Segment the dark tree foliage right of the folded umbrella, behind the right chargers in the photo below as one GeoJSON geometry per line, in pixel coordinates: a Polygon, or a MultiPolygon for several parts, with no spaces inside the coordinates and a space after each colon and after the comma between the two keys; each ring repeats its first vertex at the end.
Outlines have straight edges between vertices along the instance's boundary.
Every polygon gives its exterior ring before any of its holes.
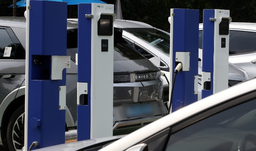
{"type": "Polygon", "coordinates": [[[121,0],[123,18],[148,23],[169,31],[170,8],[230,10],[232,22],[256,22],[256,0],[121,0]]]}

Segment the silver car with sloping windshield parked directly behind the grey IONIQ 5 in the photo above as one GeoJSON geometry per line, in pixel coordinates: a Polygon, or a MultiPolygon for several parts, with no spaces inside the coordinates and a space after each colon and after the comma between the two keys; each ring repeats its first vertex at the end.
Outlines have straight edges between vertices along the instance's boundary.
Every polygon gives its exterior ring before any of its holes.
{"type": "MultiPolygon", "coordinates": [[[[149,24],[131,20],[115,20],[114,27],[123,30],[124,39],[131,44],[144,57],[161,57],[160,66],[158,66],[169,77],[170,64],[170,34],[160,29],[154,28],[149,24]]],[[[200,44],[200,43],[199,43],[200,44]]],[[[200,48],[200,46],[199,46],[200,48]]],[[[201,48],[202,50],[202,48],[201,48]]],[[[200,49],[199,49],[200,54],[200,49]]],[[[200,58],[200,57],[199,57],[200,58]]],[[[200,58],[201,59],[201,58],[200,58]]],[[[202,66],[199,61],[198,66],[199,85],[198,100],[201,99],[201,80],[202,66]]],[[[163,78],[163,100],[169,101],[169,85],[163,78]]],[[[242,68],[229,63],[229,86],[233,86],[241,81],[249,79],[248,73],[242,68]]],[[[170,79],[168,79],[170,80],[170,79]]]]}

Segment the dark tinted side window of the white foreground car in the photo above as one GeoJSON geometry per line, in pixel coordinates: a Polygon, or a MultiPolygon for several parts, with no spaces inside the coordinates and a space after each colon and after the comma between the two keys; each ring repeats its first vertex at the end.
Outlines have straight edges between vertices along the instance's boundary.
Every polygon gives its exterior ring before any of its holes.
{"type": "Polygon", "coordinates": [[[172,134],[166,151],[256,150],[256,99],[207,117],[172,134]]]}

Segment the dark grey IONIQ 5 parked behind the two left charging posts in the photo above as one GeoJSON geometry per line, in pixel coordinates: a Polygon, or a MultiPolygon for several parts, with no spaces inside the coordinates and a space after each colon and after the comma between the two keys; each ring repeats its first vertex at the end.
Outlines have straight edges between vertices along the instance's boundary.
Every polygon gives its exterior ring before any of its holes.
{"type": "MultiPolygon", "coordinates": [[[[76,129],[77,120],[77,27],[77,20],[67,21],[67,56],[72,61],[67,69],[66,131],[76,129]]],[[[113,131],[141,127],[167,113],[159,68],[129,45],[120,32],[114,28],[113,131]],[[146,78],[138,78],[142,75],[146,78]],[[153,115],[122,116],[122,104],[126,103],[148,103],[153,106],[153,115]]],[[[11,151],[24,146],[25,37],[24,17],[0,17],[0,145],[11,151]],[[11,48],[10,54],[6,48],[11,48]]]]}

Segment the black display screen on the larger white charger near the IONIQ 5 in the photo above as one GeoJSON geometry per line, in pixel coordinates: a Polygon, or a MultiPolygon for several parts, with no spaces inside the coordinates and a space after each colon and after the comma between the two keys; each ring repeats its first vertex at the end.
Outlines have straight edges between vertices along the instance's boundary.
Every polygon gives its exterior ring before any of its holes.
{"type": "Polygon", "coordinates": [[[98,20],[98,35],[113,35],[113,16],[101,15],[98,20]]]}

